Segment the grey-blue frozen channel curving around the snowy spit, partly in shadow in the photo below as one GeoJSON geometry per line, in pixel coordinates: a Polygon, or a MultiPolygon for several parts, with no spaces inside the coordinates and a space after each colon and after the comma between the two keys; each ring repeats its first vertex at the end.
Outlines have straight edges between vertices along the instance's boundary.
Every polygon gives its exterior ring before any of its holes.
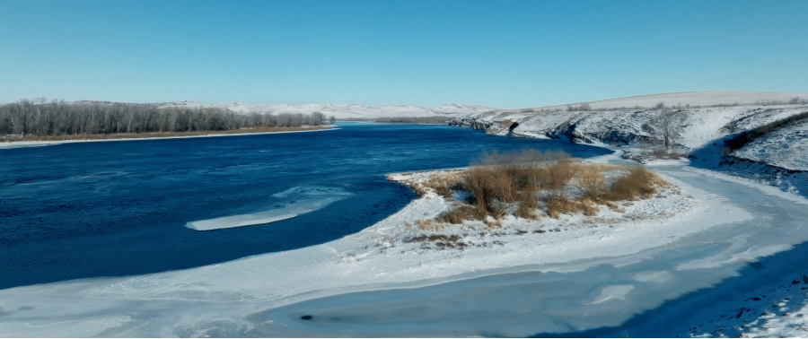
{"type": "Polygon", "coordinates": [[[701,170],[656,170],[703,188],[713,211],[697,222],[714,226],[628,256],[478,272],[473,275],[484,276],[417,288],[375,286],[297,302],[248,317],[258,327],[253,333],[681,336],[709,320],[699,317],[717,318],[737,307],[732,303],[737,297],[808,272],[808,246],[801,244],[808,239],[803,199],[701,170]],[[727,206],[749,215],[732,221],[737,215],[728,215],[727,206]],[[259,326],[268,320],[271,326],[259,326]]]}

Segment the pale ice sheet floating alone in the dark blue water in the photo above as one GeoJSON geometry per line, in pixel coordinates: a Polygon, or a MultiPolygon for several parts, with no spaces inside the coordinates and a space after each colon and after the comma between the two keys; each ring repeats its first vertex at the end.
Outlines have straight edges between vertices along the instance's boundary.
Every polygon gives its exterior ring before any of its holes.
{"type": "Polygon", "coordinates": [[[274,208],[268,211],[189,222],[186,226],[193,230],[220,230],[279,222],[317,211],[327,204],[353,195],[336,187],[293,187],[272,195],[281,200],[273,204],[274,208]]]}

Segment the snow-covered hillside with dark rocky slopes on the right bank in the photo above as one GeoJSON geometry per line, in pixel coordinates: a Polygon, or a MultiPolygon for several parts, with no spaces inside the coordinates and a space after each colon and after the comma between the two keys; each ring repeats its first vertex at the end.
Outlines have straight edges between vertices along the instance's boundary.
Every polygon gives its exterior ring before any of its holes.
{"type": "MultiPolygon", "coordinates": [[[[808,93],[777,93],[749,91],[707,91],[654,94],[603,100],[616,106],[653,106],[644,103],[661,98],[678,98],[695,105],[729,105],[733,102],[765,101],[782,103],[786,98],[808,99],[808,93]],[[689,93],[690,96],[685,94],[689,93]],[[766,93],[762,96],[760,93],[766,93]],[[720,95],[718,95],[720,94],[720,95]],[[651,98],[651,99],[649,99],[651,98]]],[[[726,154],[725,140],[759,126],[764,126],[786,117],[808,112],[803,99],[788,101],[800,104],[746,105],[708,108],[682,108],[685,117],[680,146],[696,159],[695,166],[742,174],[799,192],[808,196],[808,121],[800,120],[762,135],[741,149],[726,154]],[[800,173],[794,173],[799,171],[800,173]]],[[[473,113],[455,118],[452,125],[484,129],[489,135],[524,138],[561,139],[573,143],[605,143],[615,146],[637,147],[647,140],[658,138],[650,121],[661,113],[660,109],[595,109],[591,111],[567,111],[564,109],[518,109],[473,113]]],[[[678,106],[678,104],[677,104],[678,106]]],[[[559,106],[560,107],[560,106],[559,106]]],[[[732,150],[730,150],[732,151],[732,150]]]]}

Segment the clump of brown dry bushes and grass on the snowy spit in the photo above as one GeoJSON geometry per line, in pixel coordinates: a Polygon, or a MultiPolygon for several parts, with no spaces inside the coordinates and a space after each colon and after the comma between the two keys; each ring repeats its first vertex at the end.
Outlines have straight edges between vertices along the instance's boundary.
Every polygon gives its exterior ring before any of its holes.
{"type": "MultiPolygon", "coordinates": [[[[640,166],[584,164],[563,152],[535,150],[488,153],[464,173],[438,175],[425,184],[446,198],[451,198],[456,190],[470,193],[469,204],[459,204],[441,213],[435,222],[459,224],[479,220],[489,228],[498,227],[507,211],[531,220],[540,219],[541,207],[551,218],[560,218],[565,213],[596,216],[600,205],[621,212],[624,210],[615,202],[646,199],[656,193],[657,187],[668,185],[640,166]],[[605,172],[612,173],[610,179],[604,176],[605,172]],[[568,196],[571,182],[579,189],[579,195],[568,196]]],[[[421,230],[436,228],[426,221],[418,224],[421,230]]]]}

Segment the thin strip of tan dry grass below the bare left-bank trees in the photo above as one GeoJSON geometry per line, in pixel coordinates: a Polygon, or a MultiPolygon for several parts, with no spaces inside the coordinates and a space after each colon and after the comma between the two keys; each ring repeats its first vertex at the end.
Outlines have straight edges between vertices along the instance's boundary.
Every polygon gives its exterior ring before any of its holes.
{"type": "Polygon", "coordinates": [[[331,126],[255,127],[244,129],[231,129],[227,131],[119,133],[110,135],[40,135],[40,136],[26,135],[26,136],[0,137],[0,143],[13,143],[21,141],[143,139],[143,138],[167,138],[177,136],[202,136],[202,135],[242,135],[248,133],[316,131],[322,129],[331,129],[331,126]]]}

